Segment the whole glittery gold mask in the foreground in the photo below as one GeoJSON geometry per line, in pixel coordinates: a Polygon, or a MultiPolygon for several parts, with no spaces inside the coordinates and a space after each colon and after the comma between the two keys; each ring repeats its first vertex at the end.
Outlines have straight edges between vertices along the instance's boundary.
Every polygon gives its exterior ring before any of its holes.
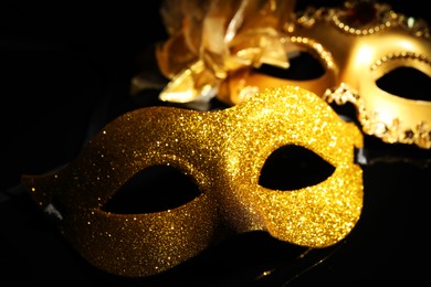
{"type": "MultiPolygon", "coordinates": [[[[361,145],[359,129],[320,97],[299,87],[273,88],[223,110],[129,111],[106,125],[69,166],[23,176],[22,183],[94,266],[149,276],[198,255],[222,238],[223,228],[265,231],[314,248],[336,244],[361,213],[362,170],[354,161],[361,145]],[[293,190],[260,184],[270,156],[292,146],[313,151],[334,167],[333,173],[293,190]],[[156,166],[179,170],[200,194],[169,210],[106,211],[135,174],[156,166]]],[[[139,192],[154,191],[144,187],[139,192]]]]}

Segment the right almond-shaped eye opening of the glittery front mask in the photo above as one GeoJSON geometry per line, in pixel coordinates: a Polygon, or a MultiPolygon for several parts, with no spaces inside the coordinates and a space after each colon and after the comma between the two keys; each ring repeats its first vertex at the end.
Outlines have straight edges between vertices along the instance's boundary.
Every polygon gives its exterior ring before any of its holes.
{"type": "Polygon", "coordinates": [[[262,167],[259,184],[271,190],[292,191],[325,181],[335,167],[314,151],[286,145],[273,151],[262,167]]]}

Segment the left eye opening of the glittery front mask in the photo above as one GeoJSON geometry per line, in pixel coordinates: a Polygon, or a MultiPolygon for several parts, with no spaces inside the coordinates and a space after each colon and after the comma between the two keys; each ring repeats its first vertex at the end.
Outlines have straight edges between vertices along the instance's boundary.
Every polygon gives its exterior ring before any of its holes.
{"type": "Polygon", "coordinates": [[[156,164],[132,177],[101,210],[117,214],[160,212],[179,208],[200,194],[190,176],[169,164],[156,164]]]}

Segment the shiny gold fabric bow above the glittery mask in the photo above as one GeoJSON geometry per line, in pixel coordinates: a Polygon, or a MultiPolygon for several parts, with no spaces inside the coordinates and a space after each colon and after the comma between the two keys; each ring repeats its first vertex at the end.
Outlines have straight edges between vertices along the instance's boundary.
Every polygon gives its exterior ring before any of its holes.
{"type": "MultiPolygon", "coordinates": [[[[262,63],[287,68],[288,42],[282,26],[294,4],[285,0],[165,0],[160,12],[170,38],[156,49],[156,57],[170,82],[159,98],[208,102],[231,71],[262,63]]],[[[135,92],[138,82],[138,77],[133,81],[135,92]]]]}

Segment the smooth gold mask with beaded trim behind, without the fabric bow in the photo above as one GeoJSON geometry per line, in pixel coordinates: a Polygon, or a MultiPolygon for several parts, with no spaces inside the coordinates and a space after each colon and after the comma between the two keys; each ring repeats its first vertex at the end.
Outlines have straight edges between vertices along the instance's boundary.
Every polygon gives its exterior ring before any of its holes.
{"type": "MultiPolygon", "coordinates": [[[[313,54],[325,73],[312,79],[283,79],[262,70],[236,71],[224,82],[219,96],[223,102],[238,104],[269,86],[298,85],[328,103],[353,104],[368,135],[389,144],[431,148],[431,40],[427,23],[396,13],[385,3],[346,1],[341,8],[308,7],[295,15],[285,32],[290,35],[285,41],[294,44],[286,52],[313,54]],[[408,77],[416,79],[412,85],[427,84],[417,87],[416,95],[393,88],[397,79],[390,84],[392,88],[385,87],[386,78],[400,71],[414,75],[408,77]]],[[[285,71],[287,74],[288,68],[285,71]]]]}

